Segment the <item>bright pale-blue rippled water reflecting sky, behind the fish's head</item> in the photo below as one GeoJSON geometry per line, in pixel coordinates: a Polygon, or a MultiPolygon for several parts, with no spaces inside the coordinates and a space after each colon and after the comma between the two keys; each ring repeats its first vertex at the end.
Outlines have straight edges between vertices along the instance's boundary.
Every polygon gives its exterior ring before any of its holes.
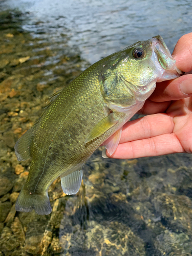
{"type": "Polygon", "coordinates": [[[90,63],[157,34],[173,51],[177,40],[192,28],[192,3],[187,0],[7,0],[6,7],[30,13],[24,28],[34,36],[49,33],[58,40],[67,33],[70,46],[78,47],[90,63]]]}

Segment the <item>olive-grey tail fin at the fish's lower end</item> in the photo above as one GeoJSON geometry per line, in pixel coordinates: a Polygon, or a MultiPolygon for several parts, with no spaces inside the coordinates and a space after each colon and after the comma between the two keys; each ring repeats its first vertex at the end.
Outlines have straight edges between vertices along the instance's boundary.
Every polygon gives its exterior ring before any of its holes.
{"type": "Polygon", "coordinates": [[[48,215],[52,210],[47,191],[45,194],[30,194],[24,187],[17,198],[15,209],[25,212],[34,209],[39,215],[48,215]]]}

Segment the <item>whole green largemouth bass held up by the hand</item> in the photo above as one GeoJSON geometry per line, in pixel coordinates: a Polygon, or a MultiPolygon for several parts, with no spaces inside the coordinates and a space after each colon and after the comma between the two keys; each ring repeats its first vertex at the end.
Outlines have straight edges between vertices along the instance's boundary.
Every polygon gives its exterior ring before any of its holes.
{"type": "Polygon", "coordinates": [[[32,159],[16,210],[50,214],[48,188],[58,177],[65,194],[76,194],[83,165],[94,151],[104,142],[112,155],[123,124],[142,108],[156,82],[180,75],[158,35],[97,61],[53,94],[38,121],[15,144],[18,161],[32,159]]]}

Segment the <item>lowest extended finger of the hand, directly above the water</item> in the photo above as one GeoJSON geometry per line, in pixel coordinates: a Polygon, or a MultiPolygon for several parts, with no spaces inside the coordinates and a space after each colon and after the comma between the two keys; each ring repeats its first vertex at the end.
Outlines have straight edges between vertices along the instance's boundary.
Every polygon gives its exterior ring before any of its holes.
{"type": "Polygon", "coordinates": [[[185,152],[175,134],[163,134],[149,139],[136,140],[119,144],[110,158],[128,159],[138,157],[160,156],[185,152]]]}

